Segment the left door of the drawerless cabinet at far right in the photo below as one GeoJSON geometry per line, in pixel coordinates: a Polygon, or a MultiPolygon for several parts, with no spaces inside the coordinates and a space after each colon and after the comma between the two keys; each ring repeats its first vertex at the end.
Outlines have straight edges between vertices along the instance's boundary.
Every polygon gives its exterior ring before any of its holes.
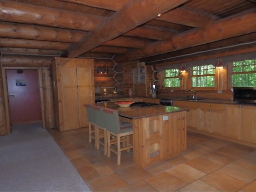
{"type": "Polygon", "coordinates": [[[241,132],[241,106],[226,105],[225,108],[225,136],[240,139],[241,132]]]}

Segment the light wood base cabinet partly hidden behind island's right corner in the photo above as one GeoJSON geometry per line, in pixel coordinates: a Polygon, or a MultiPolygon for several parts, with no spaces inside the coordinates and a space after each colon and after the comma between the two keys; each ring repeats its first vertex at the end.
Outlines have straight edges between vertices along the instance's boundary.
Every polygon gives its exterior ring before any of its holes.
{"type": "Polygon", "coordinates": [[[198,128],[198,108],[199,103],[193,101],[174,100],[174,106],[186,107],[189,111],[186,114],[187,128],[196,130],[198,128]]]}

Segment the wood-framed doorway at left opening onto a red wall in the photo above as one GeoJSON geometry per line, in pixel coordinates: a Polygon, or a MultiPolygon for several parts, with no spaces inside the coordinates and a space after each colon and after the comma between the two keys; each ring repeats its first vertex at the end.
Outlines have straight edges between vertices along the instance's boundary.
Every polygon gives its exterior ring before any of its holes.
{"type": "Polygon", "coordinates": [[[6,77],[3,78],[3,83],[4,100],[6,107],[7,134],[10,134],[12,132],[12,123],[34,122],[38,120],[41,122],[42,128],[45,128],[41,68],[3,67],[2,76],[6,77]],[[12,77],[9,77],[9,72],[10,74],[12,74],[12,77]],[[32,83],[34,84],[33,86],[36,92],[31,92],[31,90],[29,89],[31,88],[32,83]],[[10,86],[14,86],[13,89],[16,89],[16,91],[18,90],[20,92],[25,92],[23,93],[25,94],[25,96],[23,96],[23,98],[19,98],[18,94],[20,93],[11,92],[12,89],[9,88],[10,86]],[[32,98],[34,96],[35,98],[32,98]]]}

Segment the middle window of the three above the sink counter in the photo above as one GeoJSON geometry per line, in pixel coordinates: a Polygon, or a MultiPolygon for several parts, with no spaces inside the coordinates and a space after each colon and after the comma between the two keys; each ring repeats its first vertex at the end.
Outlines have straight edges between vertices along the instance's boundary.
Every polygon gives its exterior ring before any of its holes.
{"type": "Polygon", "coordinates": [[[192,87],[214,87],[215,68],[212,65],[192,68],[192,87]]]}

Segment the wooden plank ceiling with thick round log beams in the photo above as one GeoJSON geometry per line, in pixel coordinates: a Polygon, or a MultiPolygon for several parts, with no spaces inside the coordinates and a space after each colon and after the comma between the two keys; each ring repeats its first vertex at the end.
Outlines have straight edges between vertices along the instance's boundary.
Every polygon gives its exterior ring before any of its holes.
{"type": "Polygon", "coordinates": [[[255,40],[255,0],[0,0],[2,55],[152,62],[255,40]]]}

